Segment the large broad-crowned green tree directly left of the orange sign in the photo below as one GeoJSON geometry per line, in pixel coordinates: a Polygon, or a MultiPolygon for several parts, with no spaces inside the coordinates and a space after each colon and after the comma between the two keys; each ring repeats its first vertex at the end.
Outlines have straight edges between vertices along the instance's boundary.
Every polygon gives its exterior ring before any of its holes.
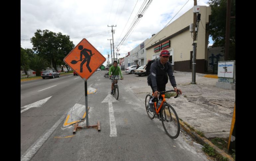
{"type": "Polygon", "coordinates": [[[31,38],[31,43],[33,50],[52,64],[56,71],[58,71],[57,65],[63,65],[64,57],[74,48],[69,36],[49,30],[37,30],[35,36],[31,38]]]}

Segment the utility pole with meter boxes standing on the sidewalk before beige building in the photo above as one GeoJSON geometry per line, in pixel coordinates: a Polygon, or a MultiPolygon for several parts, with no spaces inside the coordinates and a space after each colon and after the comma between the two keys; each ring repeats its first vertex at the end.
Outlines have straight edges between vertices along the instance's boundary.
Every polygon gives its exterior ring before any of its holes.
{"type": "MultiPolygon", "coordinates": [[[[197,3],[196,3],[196,0],[194,0],[194,6],[196,6],[197,3]]],[[[196,84],[195,82],[195,54],[196,54],[196,33],[197,31],[195,31],[195,28],[196,28],[196,12],[194,12],[194,17],[193,17],[193,55],[192,55],[192,82],[191,84],[196,84]]]]}

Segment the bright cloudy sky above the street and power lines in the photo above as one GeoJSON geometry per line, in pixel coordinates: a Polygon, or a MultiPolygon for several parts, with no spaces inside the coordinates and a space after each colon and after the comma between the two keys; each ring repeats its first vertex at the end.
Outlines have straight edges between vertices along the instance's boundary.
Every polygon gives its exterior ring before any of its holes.
{"type": "MultiPolygon", "coordinates": [[[[190,10],[194,3],[193,0],[152,0],[147,5],[150,1],[21,0],[21,46],[32,48],[30,38],[36,30],[47,29],[69,35],[75,46],[86,38],[107,58],[107,52],[110,54],[108,39],[112,39],[111,27],[108,26],[114,25],[115,52],[118,47],[120,57],[124,57],[142,41],[162,30],[170,20],[172,23],[190,10]],[[143,17],[131,28],[138,19],[137,15],[142,13],[143,17]],[[130,29],[130,34],[121,41],[130,29]]],[[[207,2],[198,0],[197,5],[209,6],[207,2]]]]}

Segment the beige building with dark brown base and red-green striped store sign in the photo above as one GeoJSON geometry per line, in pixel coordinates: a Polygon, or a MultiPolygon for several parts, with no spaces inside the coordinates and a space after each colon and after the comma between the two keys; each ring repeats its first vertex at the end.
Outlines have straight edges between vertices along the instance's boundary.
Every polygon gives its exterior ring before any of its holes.
{"type": "MultiPolygon", "coordinates": [[[[199,6],[201,19],[197,27],[197,47],[196,47],[196,68],[198,73],[207,72],[208,57],[207,45],[209,34],[207,24],[209,23],[209,15],[211,8],[207,6],[199,6]]],[[[193,8],[169,24],[159,33],[153,35],[148,43],[145,43],[146,62],[158,58],[160,52],[165,49],[170,51],[169,61],[173,65],[173,69],[177,71],[192,72],[192,53],[193,39],[190,32],[190,24],[193,23],[193,8]]]]}

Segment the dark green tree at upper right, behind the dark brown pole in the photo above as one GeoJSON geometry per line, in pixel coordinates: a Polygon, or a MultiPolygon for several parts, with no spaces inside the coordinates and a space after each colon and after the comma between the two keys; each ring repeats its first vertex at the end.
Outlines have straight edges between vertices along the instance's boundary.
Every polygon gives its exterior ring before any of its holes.
{"type": "MultiPolygon", "coordinates": [[[[212,47],[225,46],[227,0],[209,0],[211,15],[209,34],[212,36],[212,47]]],[[[231,17],[235,16],[235,0],[231,0],[231,17]]],[[[230,19],[230,40],[228,60],[235,60],[235,18],[230,19]]]]}

